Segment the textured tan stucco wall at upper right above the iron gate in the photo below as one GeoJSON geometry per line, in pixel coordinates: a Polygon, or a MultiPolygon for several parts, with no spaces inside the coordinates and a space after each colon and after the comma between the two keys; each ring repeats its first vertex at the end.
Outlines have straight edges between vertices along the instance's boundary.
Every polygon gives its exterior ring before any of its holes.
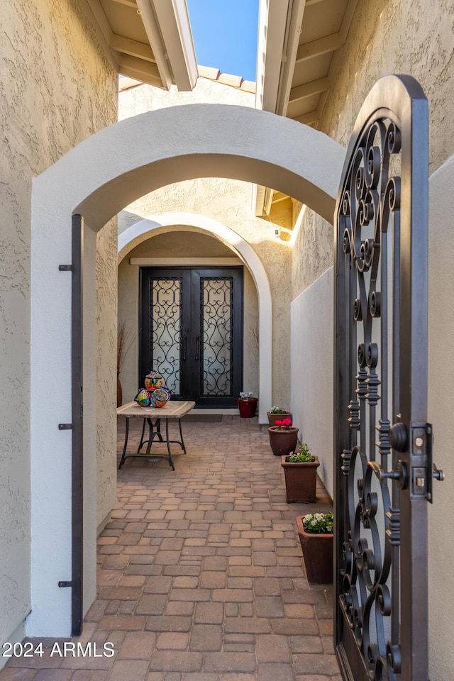
{"type": "Polygon", "coordinates": [[[429,102],[429,173],[454,153],[454,51],[451,0],[367,0],[358,3],[321,119],[348,144],[372,85],[389,73],[409,74],[429,102]]]}

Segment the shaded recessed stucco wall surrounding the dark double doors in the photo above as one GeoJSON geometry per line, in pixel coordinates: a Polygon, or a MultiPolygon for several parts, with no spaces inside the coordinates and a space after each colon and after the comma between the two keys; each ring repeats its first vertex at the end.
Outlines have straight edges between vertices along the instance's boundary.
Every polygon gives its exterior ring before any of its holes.
{"type": "MultiPolygon", "coordinates": [[[[123,404],[131,401],[138,383],[138,282],[139,266],[130,265],[130,258],[235,258],[236,253],[220,241],[180,226],[179,230],[158,234],[133,248],[118,265],[118,322],[125,321],[131,348],[121,368],[123,404]],[[181,230],[181,231],[180,231],[181,230]]],[[[240,263],[238,263],[240,264],[240,263]]],[[[222,266],[218,261],[216,266],[222,266]]],[[[244,371],[245,389],[258,394],[258,298],[255,284],[244,267],[244,371]]]]}

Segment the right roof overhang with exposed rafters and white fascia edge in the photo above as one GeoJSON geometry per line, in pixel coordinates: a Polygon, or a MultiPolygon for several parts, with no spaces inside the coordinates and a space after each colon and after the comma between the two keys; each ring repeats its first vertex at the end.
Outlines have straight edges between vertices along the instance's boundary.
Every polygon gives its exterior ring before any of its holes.
{"type": "MultiPolygon", "coordinates": [[[[358,0],[260,0],[257,109],[319,127],[358,0]]],[[[272,189],[257,187],[255,214],[272,189]]]]}

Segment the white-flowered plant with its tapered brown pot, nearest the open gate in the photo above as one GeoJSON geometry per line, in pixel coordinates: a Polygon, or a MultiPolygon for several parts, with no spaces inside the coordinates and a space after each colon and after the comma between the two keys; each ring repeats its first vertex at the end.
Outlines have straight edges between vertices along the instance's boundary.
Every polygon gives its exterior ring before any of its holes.
{"type": "Polygon", "coordinates": [[[306,576],[311,584],[333,582],[333,513],[308,513],[297,518],[306,576]]]}

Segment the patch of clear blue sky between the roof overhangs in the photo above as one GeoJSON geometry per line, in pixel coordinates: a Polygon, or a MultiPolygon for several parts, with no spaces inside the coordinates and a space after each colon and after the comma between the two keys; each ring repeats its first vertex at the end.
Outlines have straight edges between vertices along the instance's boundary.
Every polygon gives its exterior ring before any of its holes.
{"type": "Polygon", "coordinates": [[[259,0],[186,0],[197,63],[255,81],[259,0]]]}

